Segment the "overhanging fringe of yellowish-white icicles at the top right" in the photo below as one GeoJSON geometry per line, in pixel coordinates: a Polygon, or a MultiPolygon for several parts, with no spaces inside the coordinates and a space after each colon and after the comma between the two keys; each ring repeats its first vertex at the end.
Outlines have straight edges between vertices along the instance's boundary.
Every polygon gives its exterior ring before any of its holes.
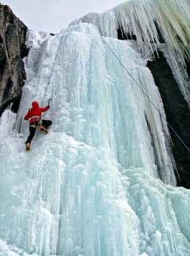
{"type": "Polygon", "coordinates": [[[132,0],[107,12],[88,13],[72,24],[92,23],[100,34],[114,38],[118,38],[121,28],[128,37],[137,37],[142,53],[147,46],[152,53],[155,49],[162,50],[190,106],[190,83],[185,63],[185,59],[190,60],[189,13],[189,0],[132,0]]]}

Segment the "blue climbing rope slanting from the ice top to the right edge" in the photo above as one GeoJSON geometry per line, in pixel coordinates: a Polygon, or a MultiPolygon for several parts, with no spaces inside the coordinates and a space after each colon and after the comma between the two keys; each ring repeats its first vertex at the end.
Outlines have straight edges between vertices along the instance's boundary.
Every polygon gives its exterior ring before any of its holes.
{"type": "MultiPolygon", "coordinates": [[[[84,17],[88,20],[88,18],[86,17],[86,15],[84,15],[84,17]]],[[[91,23],[90,20],[88,20],[88,23],[91,23]]],[[[94,26],[94,24],[91,23],[92,26],[94,26]]],[[[98,29],[96,29],[96,26],[94,26],[94,29],[97,31],[97,33],[99,34],[99,36],[102,38],[103,42],[107,45],[107,42],[104,40],[104,38],[102,37],[102,34],[100,34],[100,32],[98,31],[98,29]]],[[[115,58],[119,61],[119,63],[121,64],[121,66],[123,67],[123,69],[126,70],[126,72],[128,73],[128,75],[132,78],[132,80],[134,80],[134,78],[132,77],[132,75],[130,74],[130,72],[126,69],[126,67],[123,65],[123,63],[121,62],[120,59],[118,59],[118,56],[116,56],[116,54],[113,52],[113,50],[110,48],[109,45],[107,45],[107,47],[110,49],[110,51],[113,53],[113,55],[115,56],[115,58]]],[[[168,123],[167,119],[164,118],[164,116],[160,113],[159,109],[156,108],[156,105],[154,105],[154,103],[151,101],[151,99],[148,97],[148,95],[145,93],[145,91],[143,91],[142,87],[137,83],[136,80],[134,80],[134,83],[137,84],[137,86],[140,88],[140,90],[142,91],[142,93],[145,95],[145,97],[147,97],[147,99],[151,102],[151,104],[153,105],[153,107],[159,112],[159,115],[164,119],[164,121],[167,122],[167,125],[170,127],[170,129],[172,129],[172,131],[175,133],[175,135],[178,137],[178,139],[180,140],[181,143],[183,143],[183,146],[186,147],[186,149],[189,151],[190,153],[190,149],[188,146],[186,146],[186,143],[183,142],[183,140],[180,138],[180,136],[178,135],[177,132],[175,132],[175,129],[172,128],[172,126],[168,123]]]]}

